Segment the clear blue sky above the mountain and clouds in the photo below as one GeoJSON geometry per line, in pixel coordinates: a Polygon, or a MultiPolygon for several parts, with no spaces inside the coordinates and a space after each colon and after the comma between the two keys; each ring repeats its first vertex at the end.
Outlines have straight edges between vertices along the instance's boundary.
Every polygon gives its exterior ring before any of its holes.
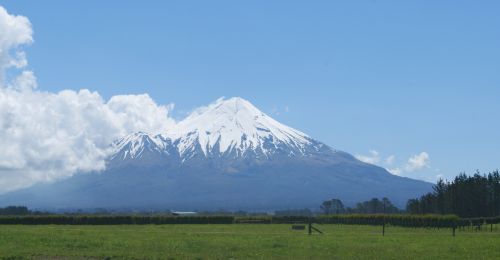
{"type": "Polygon", "coordinates": [[[499,1],[23,1],[39,89],[241,96],[352,154],[434,180],[500,159],[499,1]],[[392,165],[384,161],[395,156],[392,165]]]}

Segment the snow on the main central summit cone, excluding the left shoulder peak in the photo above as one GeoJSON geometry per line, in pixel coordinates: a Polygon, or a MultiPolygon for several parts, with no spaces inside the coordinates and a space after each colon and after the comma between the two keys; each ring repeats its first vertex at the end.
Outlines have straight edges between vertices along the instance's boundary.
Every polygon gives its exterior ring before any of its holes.
{"type": "Polygon", "coordinates": [[[205,155],[229,151],[241,155],[248,150],[267,155],[279,145],[304,153],[311,144],[306,134],[279,123],[242,98],[219,99],[192,113],[166,135],[177,141],[181,156],[198,145],[205,155]]]}

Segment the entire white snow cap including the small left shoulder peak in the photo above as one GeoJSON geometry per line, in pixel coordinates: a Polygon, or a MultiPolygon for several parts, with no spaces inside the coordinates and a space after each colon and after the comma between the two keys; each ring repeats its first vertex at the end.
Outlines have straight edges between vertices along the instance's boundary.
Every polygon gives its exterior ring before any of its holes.
{"type": "MultiPolygon", "coordinates": [[[[242,98],[219,99],[200,108],[161,135],[134,133],[113,144],[110,160],[137,160],[175,154],[182,162],[196,156],[266,158],[334,151],[283,125],[242,98]]],[[[171,156],[172,157],[172,156],[171,156]]]]}

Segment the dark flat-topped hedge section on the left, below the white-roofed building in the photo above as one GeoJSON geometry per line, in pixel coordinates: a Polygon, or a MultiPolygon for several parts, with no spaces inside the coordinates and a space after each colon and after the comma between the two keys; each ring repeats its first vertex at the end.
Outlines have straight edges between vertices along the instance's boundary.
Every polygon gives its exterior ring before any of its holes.
{"type": "Polygon", "coordinates": [[[148,225],[233,224],[233,216],[0,216],[0,224],[22,225],[148,225]]]}

